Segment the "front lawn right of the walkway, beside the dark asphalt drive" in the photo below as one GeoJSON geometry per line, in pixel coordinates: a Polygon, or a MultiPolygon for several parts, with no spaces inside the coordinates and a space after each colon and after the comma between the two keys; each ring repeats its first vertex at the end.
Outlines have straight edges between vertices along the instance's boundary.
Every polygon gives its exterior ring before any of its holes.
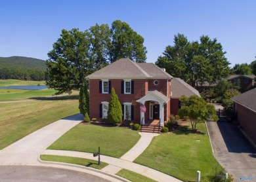
{"type": "Polygon", "coordinates": [[[211,151],[205,124],[198,124],[197,128],[198,133],[190,132],[184,126],[175,133],[154,137],[135,162],[182,181],[196,181],[198,170],[201,176],[213,175],[218,162],[211,151]]]}

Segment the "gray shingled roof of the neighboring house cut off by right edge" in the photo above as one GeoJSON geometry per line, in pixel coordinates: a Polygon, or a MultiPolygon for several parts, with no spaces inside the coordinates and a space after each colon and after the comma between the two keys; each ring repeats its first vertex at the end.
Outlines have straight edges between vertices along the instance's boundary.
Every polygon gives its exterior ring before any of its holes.
{"type": "Polygon", "coordinates": [[[234,96],[234,98],[231,98],[231,100],[256,112],[256,88],[253,88],[238,96],[234,96]]]}

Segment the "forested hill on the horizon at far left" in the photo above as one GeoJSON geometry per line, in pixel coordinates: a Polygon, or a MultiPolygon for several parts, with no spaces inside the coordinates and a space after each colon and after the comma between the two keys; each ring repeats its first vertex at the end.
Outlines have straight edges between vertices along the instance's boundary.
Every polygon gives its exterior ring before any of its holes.
{"type": "Polygon", "coordinates": [[[0,57],[0,79],[46,80],[47,66],[45,63],[44,60],[22,56],[0,57]]]}

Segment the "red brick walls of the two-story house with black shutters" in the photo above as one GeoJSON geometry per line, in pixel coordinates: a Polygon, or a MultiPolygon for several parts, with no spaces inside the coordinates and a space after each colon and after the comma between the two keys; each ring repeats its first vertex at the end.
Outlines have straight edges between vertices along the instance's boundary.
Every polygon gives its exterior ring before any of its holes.
{"type": "MultiPolygon", "coordinates": [[[[89,90],[90,90],[90,117],[91,118],[100,118],[100,103],[102,101],[110,101],[110,94],[100,94],[99,92],[99,79],[90,80],[89,81],[89,90]]],[[[116,94],[119,98],[121,104],[124,102],[132,102],[134,105],[134,120],[135,122],[140,122],[140,104],[137,102],[140,98],[142,98],[148,90],[158,90],[163,94],[167,94],[167,80],[158,80],[158,86],[154,85],[154,80],[133,80],[134,81],[134,93],[135,94],[121,94],[121,81],[118,80],[110,80],[111,86],[115,88],[116,94]]],[[[169,81],[170,83],[170,81],[169,81]]],[[[169,85],[169,84],[168,84],[169,85]]],[[[169,88],[170,93],[170,88],[169,88]]],[[[169,94],[170,95],[170,94],[169,94]]],[[[170,115],[170,107],[171,102],[169,101],[167,105],[165,105],[165,113],[167,109],[167,115],[165,114],[165,120],[170,115]]],[[[149,116],[149,102],[146,102],[147,111],[145,113],[145,118],[149,116]]]]}

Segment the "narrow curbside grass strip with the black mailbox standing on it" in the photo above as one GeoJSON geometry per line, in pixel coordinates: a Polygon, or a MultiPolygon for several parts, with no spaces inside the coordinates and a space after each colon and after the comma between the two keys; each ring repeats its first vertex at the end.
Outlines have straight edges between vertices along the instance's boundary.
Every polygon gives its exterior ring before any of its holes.
{"type": "Polygon", "coordinates": [[[108,166],[108,164],[105,162],[100,162],[100,165],[98,166],[98,160],[90,160],[87,158],[78,158],[72,156],[41,155],[40,158],[41,160],[77,164],[80,166],[86,166],[98,170],[101,170],[102,168],[108,166]]]}

